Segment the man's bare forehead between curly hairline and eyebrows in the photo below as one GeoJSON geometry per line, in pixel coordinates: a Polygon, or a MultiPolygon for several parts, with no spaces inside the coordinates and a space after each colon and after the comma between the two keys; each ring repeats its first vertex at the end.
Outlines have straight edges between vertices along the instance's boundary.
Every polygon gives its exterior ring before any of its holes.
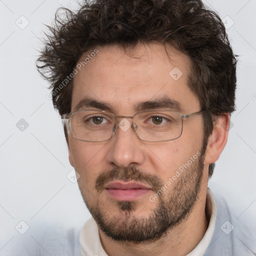
{"type": "Polygon", "coordinates": [[[189,57],[174,47],[139,43],[125,51],[108,45],[91,52],[78,61],[86,58],[74,76],[72,110],[83,98],[105,102],[122,114],[157,98],[173,99],[182,110],[198,110],[198,100],[187,86],[189,57]]]}

